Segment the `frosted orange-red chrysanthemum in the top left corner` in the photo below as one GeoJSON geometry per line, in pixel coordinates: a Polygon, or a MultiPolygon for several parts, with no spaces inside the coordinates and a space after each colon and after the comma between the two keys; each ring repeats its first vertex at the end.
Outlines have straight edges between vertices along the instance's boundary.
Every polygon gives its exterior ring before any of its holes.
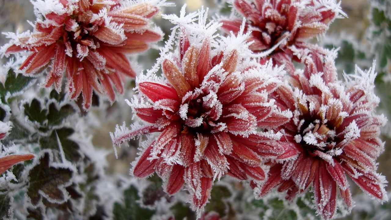
{"type": "MultiPolygon", "coordinates": [[[[154,1],[158,2],[158,1],[154,1]]],[[[136,74],[125,54],[147,50],[161,38],[149,29],[150,18],[158,12],[155,4],[126,0],[37,0],[34,31],[7,33],[11,42],[2,48],[5,55],[31,51],[20,71],[35,76],[50,63],[45,87],[66,89],[71,99],[83,94],[83,106],[91,105],[92,90],[114,101],[123,92],[124,76],[136,74]]]]}

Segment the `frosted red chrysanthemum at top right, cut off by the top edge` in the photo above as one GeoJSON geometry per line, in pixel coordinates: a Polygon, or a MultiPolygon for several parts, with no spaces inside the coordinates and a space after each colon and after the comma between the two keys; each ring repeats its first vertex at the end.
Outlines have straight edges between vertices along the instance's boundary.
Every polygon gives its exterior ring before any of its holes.
{"type": "MultiPolygon", "coordinates": [[[[293,70],[291,46],[306,48],[307,41],[323,34],[329,24],[344,13],[335,0],[234,0],[233,7],[246,18],[245,31],[251,31],[248,41],[254,52],[273,50],[269,57],[274,64],[293,70]]],[[[222,19],[222,30],[237,33],[242,18],[222,19]]]]}

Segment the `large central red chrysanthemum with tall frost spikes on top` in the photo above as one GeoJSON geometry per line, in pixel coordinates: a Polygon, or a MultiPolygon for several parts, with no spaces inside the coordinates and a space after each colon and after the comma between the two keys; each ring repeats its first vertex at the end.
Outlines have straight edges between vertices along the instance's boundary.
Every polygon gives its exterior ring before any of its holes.
{"type": "Polygon", "coordinates": [[[178,51],[161,61],[164,78],[136,79],[140,95],[129,104],[144,125],[117,127],[112,134],[118,145],[136,135],[160,132],[142,149],[131,172],[142,178],[156,171],[170,195],[185,184],[198,214],[214,179],[228,174],[264,180],[263,158],[291,156],[278,144],[278,133],[257,132],[258,126],[275,128],[291,117],[268,98],[280,85],[275,75],[282,70],[246,58],[247,36],[216,40],[218,25],[205,24],[205,18],[201,11],[199,24],[179,24],[178,51]]]}

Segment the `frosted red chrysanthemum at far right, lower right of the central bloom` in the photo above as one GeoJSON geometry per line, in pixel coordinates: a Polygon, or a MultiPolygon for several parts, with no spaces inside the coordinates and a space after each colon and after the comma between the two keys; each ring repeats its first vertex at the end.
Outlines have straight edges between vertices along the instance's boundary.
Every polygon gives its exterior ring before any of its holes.
{"type": "Polygon", "coordinates": [[[387,200],[386,180],[376,172],[375,162],[384,148],[379,135],[386,119],[375,114],[379,100],[373,93],[374,67],[366,72],[357,68],[343,83],[337,80],[334,57],[310,54],[304,72],[292,76],[293,89],[286,84],[274,92],[277,105],[294,112],[292,120],[280,128],[298,157],[274,164],[267,180],[253,185],[259,196],[278,187],[291,198],[312,184],[314,203],[323,219],[335,213],[337,189],[352,209],[346,175],[372,198],[387,200]]]}

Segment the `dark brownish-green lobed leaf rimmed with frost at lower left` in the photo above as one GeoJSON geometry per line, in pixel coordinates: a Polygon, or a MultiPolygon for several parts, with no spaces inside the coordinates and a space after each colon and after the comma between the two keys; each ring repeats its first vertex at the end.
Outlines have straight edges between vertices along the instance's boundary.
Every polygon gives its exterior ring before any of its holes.
{"type": "Polygon", "coordinates": [[[33,205],[38,205],[42,197],[49,202],[63,203],[67,199],[65,187],[71,184],[72,170],[52,165],[49,153],[45,153],[39,164],[34,166],[29,172],[29,187],[27,195],[33,205]]]}

